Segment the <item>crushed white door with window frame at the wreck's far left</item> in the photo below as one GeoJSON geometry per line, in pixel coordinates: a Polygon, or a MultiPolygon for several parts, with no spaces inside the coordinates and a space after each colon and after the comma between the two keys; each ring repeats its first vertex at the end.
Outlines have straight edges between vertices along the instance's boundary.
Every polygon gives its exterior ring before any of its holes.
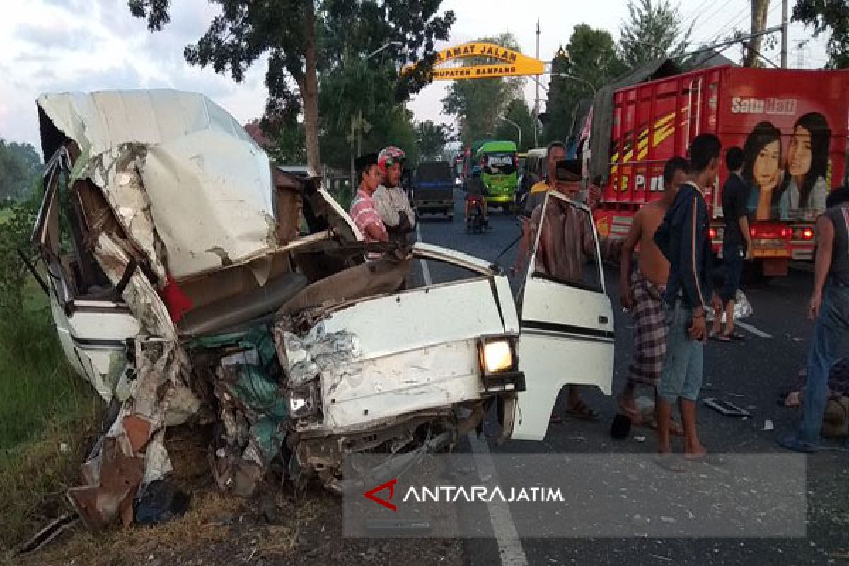
{"type": "Polygon", "coordinates": [[[126,340],[140,325],[121,299],[121,286],[110,283],[85,246],[93,219],[83,214],[69,177],[70,157],[62,148],[46,167],[33,241],[44,262],[47,277],[41,283],[65,356],[110,401],[127,362],[126,340]]]}

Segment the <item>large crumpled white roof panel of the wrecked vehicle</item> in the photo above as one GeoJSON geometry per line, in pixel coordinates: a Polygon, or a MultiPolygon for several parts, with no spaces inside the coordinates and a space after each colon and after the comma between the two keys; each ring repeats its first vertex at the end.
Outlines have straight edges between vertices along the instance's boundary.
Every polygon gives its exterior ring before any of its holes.
{"type": "Polygon", "coordinates": [[[209,98],[169,89],[66,92],[44,94],[37,104],[82,154],[99,160],[82,175],[110,202],[121,200],[109,177],[118,174],[127,148],[147,149],[138,172],[165,244],[167,270],[177,279],[273,248],[267,154],[209,98]]]}

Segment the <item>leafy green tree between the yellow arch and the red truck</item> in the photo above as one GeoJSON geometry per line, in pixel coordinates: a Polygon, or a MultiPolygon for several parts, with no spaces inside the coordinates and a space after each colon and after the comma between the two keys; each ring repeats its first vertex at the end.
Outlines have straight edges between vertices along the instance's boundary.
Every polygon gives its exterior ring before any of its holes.
{"type": "Polygon", "coordinates": [[[568,142],[578,103],[593,96],[593,89],[583,81],[598,89],[625,70],[609,31],[576,25],[566,49],[554,54],[543,139],[568,142]]]}

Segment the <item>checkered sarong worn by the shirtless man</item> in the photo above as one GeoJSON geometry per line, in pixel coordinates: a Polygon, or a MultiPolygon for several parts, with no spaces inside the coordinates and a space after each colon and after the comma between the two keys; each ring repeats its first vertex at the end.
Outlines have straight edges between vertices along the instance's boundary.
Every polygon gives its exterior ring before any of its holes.
{"type": "Polygon", "coordinates": [[[656,386],[666,356],[666,322],[663,320],[663,294],[666,285],[658,287],[639,269],[631,274],[634,320],[634,358],[628,368],[628,381],[656,386]]]}

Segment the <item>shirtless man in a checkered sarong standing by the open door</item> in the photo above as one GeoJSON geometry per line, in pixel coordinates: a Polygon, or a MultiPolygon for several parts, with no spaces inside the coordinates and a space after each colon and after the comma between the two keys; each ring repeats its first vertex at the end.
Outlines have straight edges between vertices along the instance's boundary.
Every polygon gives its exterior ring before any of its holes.
{"type": "Polygon", "coordinates": [[[620,398],[620,412],[634,425],[651,424],[634,403],[637,385],[657,386],[666,355],[666,323],[663,319],[663,294],[669,278],[669,262],[655,244],[655,230],[672,205],[681,183],[687,181],[689,164],[673,157],[663,168],[663,198],[645,205],[634,215],[631,229],[622,244],[619,268],[620,301],[634,320],[634,355],[628,368],[628,380],[620,398]],[[631,256],[639,244],[637,269],[631,271],[631,256]]]}

